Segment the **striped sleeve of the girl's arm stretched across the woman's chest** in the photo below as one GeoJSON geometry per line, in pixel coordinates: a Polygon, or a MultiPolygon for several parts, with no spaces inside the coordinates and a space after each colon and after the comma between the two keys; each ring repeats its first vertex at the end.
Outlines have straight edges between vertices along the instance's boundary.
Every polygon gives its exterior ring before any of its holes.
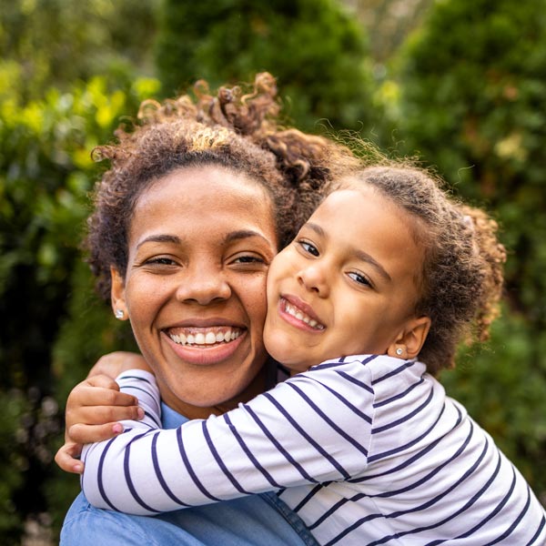
{"type": "Polygon", "coordinates": [[[174,430],[126,423],[86,449],[82,487],[99,508],[154,514],[346,480],[367,466],[372,418],[364,363],[329,362],[222,416],[174,430]]]}

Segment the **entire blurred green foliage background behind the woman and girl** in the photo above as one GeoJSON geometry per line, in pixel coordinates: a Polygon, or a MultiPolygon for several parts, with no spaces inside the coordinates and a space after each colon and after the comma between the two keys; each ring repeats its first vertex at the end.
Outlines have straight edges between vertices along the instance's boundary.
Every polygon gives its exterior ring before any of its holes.
{"type": "Polygon", "coordinates": [[[441,377],[546,502],[546,0],[0,5],[0,542],[54,544],[68,391],[131,349],[79,250],[90,159],[147,97],[278,77],[284,111],[417,155],[498,218],[504,313],[441,377]]]}

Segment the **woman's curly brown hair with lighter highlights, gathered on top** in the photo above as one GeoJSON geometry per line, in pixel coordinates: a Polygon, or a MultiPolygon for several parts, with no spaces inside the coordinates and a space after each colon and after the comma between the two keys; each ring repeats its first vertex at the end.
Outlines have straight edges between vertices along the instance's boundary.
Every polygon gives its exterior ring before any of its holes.
{"type": "Polygon", "coordinates": [[[357,160],[333,139],[281,126],[278,115],[277,86],[268,73],[258,74],[248,92],[223,86],[214,95],[199,81],[192,95],[144,101],[137,119],[116,129],[115,143],[95,148],[94,159],[109,161],[109,168],[96,185],[85,246],[104,298],[110,268],[126,274],[136,200],[177,168],[214,165],[257,181],[274,205],[280,248],[294,238],[331,179],[357,160]]]}

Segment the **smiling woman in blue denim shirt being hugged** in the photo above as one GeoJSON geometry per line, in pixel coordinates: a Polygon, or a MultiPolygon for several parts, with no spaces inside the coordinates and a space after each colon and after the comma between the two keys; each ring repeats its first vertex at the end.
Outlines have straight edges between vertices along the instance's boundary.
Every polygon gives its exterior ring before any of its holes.
{"type": "MultiPolygon", "coordinates": [[[[222,88],[215,99],[147,103],[142,125],[96,151],[111,167],[89,220],[91,267],[118,319],[153,325],[136,340],[157,376],[166,428],[275,381],[262,340],[268,263],[329,177],[356,163],[326,139],[280,130],[277,114],[274,80],[258,75],[247,96],[222,88]],[[143,297],[174,263],[182,281],[143,297]],[[133,295],[126,305],[120,290],[133,295]]],[[[59,451],[63,468],[70,452],[59,451]]],[[[266,494],[147,519],[92,509],[80,495],[61,543],[313,544],[296,514],[273,502],[266,494]]]]}

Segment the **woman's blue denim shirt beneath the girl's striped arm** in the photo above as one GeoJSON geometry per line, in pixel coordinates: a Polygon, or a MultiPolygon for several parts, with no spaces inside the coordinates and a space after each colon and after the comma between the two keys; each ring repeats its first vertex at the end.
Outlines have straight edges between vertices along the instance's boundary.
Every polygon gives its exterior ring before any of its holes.
{"type": "MultiPolygon", "coordinates": [[[[187,419],[162,405],[164,429],[187,419]]],[[[60,546],[318,546],[275,493],[133,516],[91,506],[80,493],[66,514],[60,546]]]]}

